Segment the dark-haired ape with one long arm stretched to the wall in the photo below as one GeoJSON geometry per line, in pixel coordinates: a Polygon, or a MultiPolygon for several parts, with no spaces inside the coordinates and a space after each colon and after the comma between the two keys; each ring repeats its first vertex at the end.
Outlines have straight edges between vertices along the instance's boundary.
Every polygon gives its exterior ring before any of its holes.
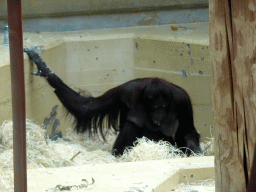
{"type": "Polygon", "coordinates": [[[76,119],[76,131],[103,134],[103,120],[108,128],[120,131],[113,146],[115,155],[133,146],[143,136],[165,140],[187,155],[200,153],[200,136],[194,127],[193,111],[187,92],[163,79],[143,78],[128,81],[100,97],[84,97],[62,82],[31,49],[24,49],[37,65],[34,75],[45,77],[65,108],[76,119]],[[93,129],[92,129],[93,128],[93,129]]]}

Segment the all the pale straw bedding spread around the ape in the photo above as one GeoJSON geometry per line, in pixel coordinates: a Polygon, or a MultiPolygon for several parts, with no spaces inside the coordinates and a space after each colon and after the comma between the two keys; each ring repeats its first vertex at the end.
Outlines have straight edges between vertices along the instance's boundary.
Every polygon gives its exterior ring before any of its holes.
{"type": "MultiPolygon", "coordinates": [[[[147,138],[138,139],[136,147],[127,149],[123,156],[111,155],[116,135],[109,133],[107,143],[100,138],[88,139],[84,134],[77,135],[70,129],[67,137],[52,141],[46,137],[45,130],[30,120],[27,126],[27,167],[67,167],[83,164],[135,162],[184,157],[177,148],[168,142],[153,142],[147,138]]],[[[13,175],[4,174],[13,169],[12,121],[5,121],[0,127],[0,189],[13,190],[13,175]]],[[[211,145],[211,144],[210,144],[211,145]]],[[[207,148],[209,144],[206,144],[207,148]]],[[[209,151],[208,147],[208,151],[209,151]]]]}

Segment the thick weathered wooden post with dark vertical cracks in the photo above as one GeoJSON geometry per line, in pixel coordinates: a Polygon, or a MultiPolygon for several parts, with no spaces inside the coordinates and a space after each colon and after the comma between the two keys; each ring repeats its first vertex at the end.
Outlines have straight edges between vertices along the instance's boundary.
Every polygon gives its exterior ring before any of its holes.
{"type": "Polygon", "coordinates": [[[216,191],[246,191],[256,141],[256,5],[210,0],[216,191]]]}

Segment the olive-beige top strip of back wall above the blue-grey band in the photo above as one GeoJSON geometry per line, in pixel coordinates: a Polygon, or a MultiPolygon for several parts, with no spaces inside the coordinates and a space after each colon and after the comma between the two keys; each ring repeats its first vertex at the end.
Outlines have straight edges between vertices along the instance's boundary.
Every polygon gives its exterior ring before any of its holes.
{"type": "MultiPolygon", "coordinates": [[[[206,7],[208,0],[25,0],[24,18],[145,11],[159,8],[206,7]]],[[[7,18],[7,1],[0,0],[0,20],[7,18]]]]}

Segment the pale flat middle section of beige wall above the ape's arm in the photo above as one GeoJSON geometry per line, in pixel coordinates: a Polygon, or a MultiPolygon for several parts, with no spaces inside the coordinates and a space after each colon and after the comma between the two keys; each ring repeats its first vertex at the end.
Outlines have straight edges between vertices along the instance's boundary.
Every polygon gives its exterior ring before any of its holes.
{"type": "Polygon", "coordinates": [[[67,38],[67,81],[94,96],[134,78],[133,38],[67,38]]]}

